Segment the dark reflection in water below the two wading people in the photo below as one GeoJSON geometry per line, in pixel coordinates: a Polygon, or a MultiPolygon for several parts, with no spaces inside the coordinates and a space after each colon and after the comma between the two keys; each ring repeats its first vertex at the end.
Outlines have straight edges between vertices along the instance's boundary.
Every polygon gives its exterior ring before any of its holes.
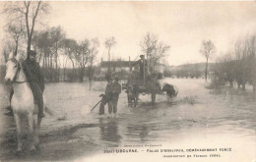
{"type": "Polygon", "coordinates": [[[118,122],[116,119],[102,119],[98,120],[100,139],[110,142],[119,143],[121,135],[118,134],[118,122]],[[105,122],[105,123],[104,123],[105,122]]]}

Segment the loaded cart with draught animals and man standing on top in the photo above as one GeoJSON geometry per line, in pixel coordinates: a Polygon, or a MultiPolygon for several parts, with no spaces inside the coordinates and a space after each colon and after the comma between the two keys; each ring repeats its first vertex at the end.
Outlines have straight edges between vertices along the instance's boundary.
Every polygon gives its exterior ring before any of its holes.
{"type": "Polygon", "coordinates": [[[122,89],[125,89],[125,92],[127,93],[128,105],[136,107],[139,94],[151,94],[152,104],[155,104],[156,102],[156,94],[162,94],[163,91],[166,91],[166,94],[169,95],[170,98],[176,96],[177,90],[174,89],[173,85],[165,83],[169,86],[165,86],[164,88],[160,87],[159,80],[162,78],[162,74],[155,71],[153,68],[154,66],[148,65],[144,55],[141,55],[140,57],[141,59],[136,63],[133,63],[133,65],[131,65],[129,58],[129,78],[122,84],[122,89]],[[140,71],[132,71],[132,67],[135,65],[139,65],[140,71]],[[149,69],[151,70],[149,71],[149,69]]]}

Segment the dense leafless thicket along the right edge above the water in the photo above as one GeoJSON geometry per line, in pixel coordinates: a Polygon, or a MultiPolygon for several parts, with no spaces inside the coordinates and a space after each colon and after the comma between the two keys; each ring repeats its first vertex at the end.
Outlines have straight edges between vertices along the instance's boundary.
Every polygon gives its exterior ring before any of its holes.
{"type": "Polygon", "coordinates": [[[240,38],[234,44],[232,50],[220,57],[214,72],[215,84],[220,85],[228,82],[229,86],[241,87],[251,84],[255,91],[256,86],[256,35],[240,38]]]}

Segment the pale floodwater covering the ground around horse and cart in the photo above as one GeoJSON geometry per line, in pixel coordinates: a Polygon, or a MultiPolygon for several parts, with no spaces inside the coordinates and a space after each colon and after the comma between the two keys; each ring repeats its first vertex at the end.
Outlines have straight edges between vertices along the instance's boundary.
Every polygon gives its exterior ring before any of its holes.
{"type": "MultiPolygon", "coordinates": [[[[42,121],[40,152],[23,155],[14,153],[16,129],[13,118],[4,115],[8,90],[1,85],[0,161],[104,161],[103,157],[110,156],[103,153],[105,149],[127,145],[145,147],[145,144],[160,149],[232,149],[232,152],[221,152],[222,158],[209,158],[207,161],[242,162],[256,158],[256,100],[251,89],[246,92],[226,89],[216,94],[205,88],[203,80],[164,79],[162,82],[176,85],[178,96],[168,102],[166,96],[160,94],[157,95],[157,103],[151,105],[150,95],[140,95],[139,106],[131,108],[123,90],[116,118],[99,117],[98,106],[91,111],[100,100],[98,95],[103,93],[105,82],[95,82],[92,90],[87,83],[46,84],[47,107],[54,115],[46,114],[42,121]]],[[[28,128],[24,126],[24,130],[26,136],[28,128]]],[[[137,157],[137,154],[125,154],[129,155],[137,157]]],[[[160,153],[141,152],[139,155],[147,156],[147,161],[154,161],[154,158],[163,160],[160,153]]],[[[118,155],[110,157],[118,161],[118,155]]],[[[186,161],[182,158],[176,160],[186,161]]],[[[193,160],[206,161],[190,159],[193,160]]]]}

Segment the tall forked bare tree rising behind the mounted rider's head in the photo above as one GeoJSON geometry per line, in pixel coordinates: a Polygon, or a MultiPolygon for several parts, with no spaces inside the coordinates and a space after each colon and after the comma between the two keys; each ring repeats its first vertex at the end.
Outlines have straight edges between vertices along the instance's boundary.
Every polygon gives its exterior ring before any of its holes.
{"type": "Polygon", "coordinates": [[[9,2],[5,6],[3,13],[8,16],[8,26],[20,19],[22,19],[25,24],[28,55],[32,46],[32,35],[37,17],[47,13],[48,10],[49,5],[41,1],[9,2]]]}

